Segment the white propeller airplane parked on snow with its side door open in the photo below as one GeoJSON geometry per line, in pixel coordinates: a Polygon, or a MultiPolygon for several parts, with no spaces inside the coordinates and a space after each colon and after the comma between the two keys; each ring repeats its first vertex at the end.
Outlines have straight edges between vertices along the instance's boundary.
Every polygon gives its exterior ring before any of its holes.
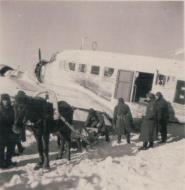
{"type": "Polygon", "coordinates": [[[28,72],[0,65],[0,94],[9,93],[13,97],[17,91],[24,90],[28,95],[45,96],[49,91],[56,101],[56,94],[60,95],[65,88],[69,91],[62,98],[72,94],[74,100],[69,102],[72,105],[84,108],[94,105],[93,101],[87,104],[85,97],[82,97],[84,101],[76,101],[77,93],[83,92],[95,99],[96,105],[100,102],[98,109],[103,104],[107,109],[101,111],[111,114],[117,99],[123,97],[134,116],[142,117],[146,94],[160,91],[171,103],[177,119],[184,122],[183,61],[91,50],[65,50],[46,61],[41,59],[39,50],[35,74],[37,80],[28,72]]]}

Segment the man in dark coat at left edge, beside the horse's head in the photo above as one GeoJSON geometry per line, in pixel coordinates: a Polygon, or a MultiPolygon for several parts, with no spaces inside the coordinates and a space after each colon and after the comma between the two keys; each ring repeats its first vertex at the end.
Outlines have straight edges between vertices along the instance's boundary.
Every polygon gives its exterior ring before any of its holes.
{"type": "Polygon", "coordinates": [[[15,146],[15,134],[12,132],[13,123],[14,110],[11,106],[10,96],[2,94],[0,101],[0,168],[15,165],[12,162],[15,146]]]}

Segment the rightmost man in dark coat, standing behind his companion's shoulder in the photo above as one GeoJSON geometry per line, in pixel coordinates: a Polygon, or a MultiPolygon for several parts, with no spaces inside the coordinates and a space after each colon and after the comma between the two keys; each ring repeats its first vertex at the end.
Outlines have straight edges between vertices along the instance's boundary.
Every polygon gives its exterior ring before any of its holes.
{"type": "Polygon", "coordinates": [[[156,93],[156,126],[161,133],[161,143],[167,140],[167,125],[169,120],[168,102],[163,98],[161,92],[156,93]]]}

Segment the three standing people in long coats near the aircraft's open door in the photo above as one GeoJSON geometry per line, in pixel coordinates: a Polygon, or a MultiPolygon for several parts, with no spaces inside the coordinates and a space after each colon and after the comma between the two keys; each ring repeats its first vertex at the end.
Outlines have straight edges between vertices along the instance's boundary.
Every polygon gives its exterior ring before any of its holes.
{"type": "MultiPolygon", "coordinates": [[[[143,146],[139,148],[140,150],[152,148],[159,132],[161,133],[160,143],[166,142],[168,120],[168,102],[163,98],[161,92],[157,92],[155,95],[148,93],[146,113],[142,119],[140,131],[140,140],[143,142],[143,146]]],[[[125,135],[127,143],[130,143],[132,123],[133,119],[129,106],[125,104],[123,98],[119,98],[113,117],[118,143],[121,142],[122,135],[125,135]]]]}

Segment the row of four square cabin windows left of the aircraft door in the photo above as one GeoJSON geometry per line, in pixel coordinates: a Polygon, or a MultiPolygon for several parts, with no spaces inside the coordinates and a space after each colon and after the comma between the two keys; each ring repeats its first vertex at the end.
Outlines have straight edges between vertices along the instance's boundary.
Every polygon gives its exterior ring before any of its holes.
{"type": "MultiPolygon", "coordinates": [[[[69,64],[69,70],[75,71],[76,64],[70,62],[69,64]]],[[[86,64],[79,64],[78,72],[86,73],[87,72],[87,65],[86,64]]],[[[93,75],[99,75],[100,74],[100,66],[93,65],[91,66],[91,74],[93,75]]],[[[114,73],[114,68],[105,67],[104,68],[104,76],[105,77],[111,77],[114,73]]]]}

